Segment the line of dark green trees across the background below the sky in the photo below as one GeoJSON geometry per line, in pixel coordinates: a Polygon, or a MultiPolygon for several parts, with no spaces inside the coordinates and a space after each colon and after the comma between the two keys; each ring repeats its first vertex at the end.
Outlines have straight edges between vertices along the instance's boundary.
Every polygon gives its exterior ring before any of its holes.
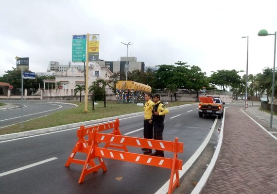
{"type": "MultiPolygon", "coordinates": [[[[238,75],[239,71],[236,70],[217,70],[212,72],[210,77],[206,76],[206,72],[202,72],[201,68],[196,65],[188,65],[178,61],[174,65],[157,65],[156,68],[147,68],[145,72],[134,70],[128,72],[128,80],[136,81],[151,86],[152,93],[159,90],[164,90],[174,96],[176,100],[177,89],[195,91],[198,96],[198,91],[203,87],[206,90],[222,90],[225,91],[230,87],[233,92],[233,97],[242,97],[245,93],[245,79],[246,75],[242,78],[238,75]],[[220,88],[220,89],[218,89],[220,88]]],[[[0,76],[1,82],[8,82],[14,86],[14,95],[21,89],[21,70],[13,68],[13,70],[5,71],[6,74],[0,76]]],[[[277,85],[272,87],[272,68],[263,69],[263,73],[257,75],[248,75],[248,97],[259,97],[266,93],[271,95],[272,88],[277,95],[277,85]]],[[[120,80],[125,80],[125,72],[114,73],[109,80],[100,79],[90,84],[89,91],[93,94],[94,100],[105,99],[105,87],[109,85],[113,92],[116,93],[116,83],[120,80]]],[[[43,86],[43,80],[55,79],[54,76],[36,76],[35,79],[23,79],[24,88],[28,92],[35,92],[39,85],[43,86]]],[[[55,83],[58,87],[59,83],[55,83]]],[[[84,87],[84,86],[83,86],[84,87]]],[[[81,91],[82,86],[76,86],[75,90],[81,91]]],[[[84,88],[83,88],[84,89],[84,88]]],[[[77,93],[77,92],[76,92],[77,93]]]]}

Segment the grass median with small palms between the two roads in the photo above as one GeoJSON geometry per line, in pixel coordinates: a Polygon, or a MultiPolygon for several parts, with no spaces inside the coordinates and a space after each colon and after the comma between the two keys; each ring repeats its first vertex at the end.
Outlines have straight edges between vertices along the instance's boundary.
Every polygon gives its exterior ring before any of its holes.
{"type": "MultiPolygon", "coordinates": [[[[23,127],[21,127],[21,123],[17,123],[16,125],[1,128],[0,135],[56,127],[60,125],[79,123],[129,113],[143,112],[143,106],[137,106],[137,104],[118,104],[114,101],[107,101],[106,108],[104,108],[104,102],[97,102],[98,105],[94,105],[94,111],[92,111],[92,102],[88,102],[89,112],[83,113],[85,109],[85,102],[66,101],[66,103],[76,104],[78,107],[52,113],[50,115],[29,121],[24,121],[23,117],[23,127]]],[[[173,107],[190,103],[195,102],[169,102],[166,104],[166,107],[173,107]]]]}

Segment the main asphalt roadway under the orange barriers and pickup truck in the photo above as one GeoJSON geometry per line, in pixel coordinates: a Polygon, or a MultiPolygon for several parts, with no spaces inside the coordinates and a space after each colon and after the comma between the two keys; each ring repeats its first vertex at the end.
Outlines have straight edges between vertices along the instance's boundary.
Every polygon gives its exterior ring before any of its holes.
{"type": "MultiPolygon", "coordinates": [[[[184,143],[184,153],[178,155],[183,164],[203,143],[215,118],[200,118],[197,104],[170,110],[166,115],[164,140],[174,141],[178,137],[184,143]]],[[[123,135],[143,137],[142,127],[143,115],[120,120],[123,135]]],[[[105,173],[99,170],[78,184],[83,166],[65,167],[76,141],[76,129],[68,129],[0,142],[1,193],[155,194],[170,178],[169,169],[104,159],[105,173]]],[[[138,147],[128,147],[128,151],[142,153],[138,147]]],[[[85,159],[82,154],[78,157],[85,159]]],[[[171,158],[172,154],[165,152],[165,157],[171,158]]]]}

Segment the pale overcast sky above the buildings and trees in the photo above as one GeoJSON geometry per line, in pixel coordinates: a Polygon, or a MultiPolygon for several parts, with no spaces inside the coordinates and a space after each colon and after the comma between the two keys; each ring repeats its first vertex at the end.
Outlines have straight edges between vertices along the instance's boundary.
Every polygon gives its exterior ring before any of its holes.
{"type": "MultiPolygon", "coordinates": [[[[29,69],[71,61],[72,35],[100,34],[99,58],[137,57],[146,66],[177,61],[211,71],[273,67],[276,0],[6,0],[0,5],[0,76],[29,57],[29,69]]],[[[77,65],[77,63],[76,63],[77,65]]],[[[82,64],[78,64],[82,65],[82,64]]],[[[240,75],[243,73],[240,73],[240,75]]]]}

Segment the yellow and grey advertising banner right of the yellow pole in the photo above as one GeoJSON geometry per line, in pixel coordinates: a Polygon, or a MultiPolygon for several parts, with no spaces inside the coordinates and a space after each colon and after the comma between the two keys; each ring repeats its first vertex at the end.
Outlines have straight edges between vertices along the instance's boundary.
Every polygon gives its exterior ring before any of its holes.
{"type": "Polygon", "coordinates": [[[89,34],[88,42],[88,61],[99,61],[99,34],[89,34]]]}

